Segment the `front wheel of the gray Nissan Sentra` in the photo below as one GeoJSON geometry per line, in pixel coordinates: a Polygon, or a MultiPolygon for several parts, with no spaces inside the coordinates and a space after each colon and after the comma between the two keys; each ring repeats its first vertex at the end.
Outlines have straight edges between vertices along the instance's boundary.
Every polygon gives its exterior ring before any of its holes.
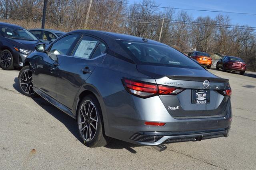
{"type": "Polygon", "coordinates": [[[22,94],[28,97],[36,97],[38,94],[33,90],[33,77],[30,66],[24,66],[18,76],[19,87],[22,94]]]}

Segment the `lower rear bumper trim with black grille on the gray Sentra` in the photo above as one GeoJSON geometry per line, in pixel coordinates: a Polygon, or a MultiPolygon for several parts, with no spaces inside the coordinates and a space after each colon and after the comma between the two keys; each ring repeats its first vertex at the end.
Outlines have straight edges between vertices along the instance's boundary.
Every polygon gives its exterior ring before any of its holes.
{"type": "Polygon", "coordinates": [[[211,138],[228,137],[230,126],[215,130],[191,132],[138,132],[129,142],[140,145],[159,145],[176,142],[200,141],[211,138]]]}

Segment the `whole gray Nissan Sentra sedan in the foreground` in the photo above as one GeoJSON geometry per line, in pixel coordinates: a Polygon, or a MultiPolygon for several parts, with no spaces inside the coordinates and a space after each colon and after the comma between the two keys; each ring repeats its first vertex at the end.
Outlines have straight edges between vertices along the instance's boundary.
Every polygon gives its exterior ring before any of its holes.
{"type": "Polygon", "coordinates": [[[89,147],[111,138],[163,150],[165,143],[227,137],[227,79],[153,40],[76,30],[24,62],[19,84],[77,120],[89,147]]]}

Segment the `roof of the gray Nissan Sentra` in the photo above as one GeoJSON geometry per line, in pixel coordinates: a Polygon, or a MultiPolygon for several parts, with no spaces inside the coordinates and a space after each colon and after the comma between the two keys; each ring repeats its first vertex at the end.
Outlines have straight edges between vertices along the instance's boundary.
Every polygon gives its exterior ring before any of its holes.
{"type": "MultiPolygon", "coordinates": [[[[127,34],[118,34],[114,32],[105,32],[105,31],[98,31],[98,30],[75,30],[71,31],[69,33],[82,33],[82,34],[91,34],[94,36],[98,36],[99,38],[102,38],[104,41],[108,41],[108,38],[111,38],[112,40],[127,40],[127,41],[136,41],[136,42],[144,42],[141,37],[137,36],[131,36],[127,34]]],[[[147,39],[148,43],[150,44],[159,44],[167,46],[166,44],[147,39]]]]}

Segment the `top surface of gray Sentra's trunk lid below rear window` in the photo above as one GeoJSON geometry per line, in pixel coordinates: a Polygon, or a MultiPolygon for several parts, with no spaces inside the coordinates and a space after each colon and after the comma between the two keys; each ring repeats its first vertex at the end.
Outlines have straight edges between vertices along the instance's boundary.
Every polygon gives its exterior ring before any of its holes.
{"type": "Polygon", "coordinates": [[[170,66],[151,66],[151,65],[137,65],[137,70],[142,74],[152,78],[161,78],[164,76],[186,76],[186,77],[207,77],[218,78],[214,74],[208,72],[204,68],[178,68],[170,66]]]}

